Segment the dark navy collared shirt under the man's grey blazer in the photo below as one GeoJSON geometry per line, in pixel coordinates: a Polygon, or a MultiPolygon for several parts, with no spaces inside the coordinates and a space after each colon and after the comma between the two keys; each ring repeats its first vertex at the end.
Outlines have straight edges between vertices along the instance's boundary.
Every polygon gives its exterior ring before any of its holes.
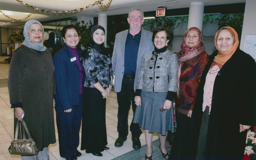
{"type": "Polygon", "coordinates": [[[124,75],[135,76],[141,32],[133,36],[128,30],[124,49],[124,75]]]}

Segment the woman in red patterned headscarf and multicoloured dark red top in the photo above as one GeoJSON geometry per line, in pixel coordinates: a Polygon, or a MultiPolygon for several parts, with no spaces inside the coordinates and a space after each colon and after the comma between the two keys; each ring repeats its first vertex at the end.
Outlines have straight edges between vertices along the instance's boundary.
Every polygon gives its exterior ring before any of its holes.
{"type": "Polygon", "coordinates": [[[204,50],[203,37],[199,28],[191,27],[184,33],[181,51],[177,53],[178,93],[175,100],[177,129],[169,159],[186,159],[188,152],[188,128],[195,103],[197,87],[208,61],[204,50]]]}

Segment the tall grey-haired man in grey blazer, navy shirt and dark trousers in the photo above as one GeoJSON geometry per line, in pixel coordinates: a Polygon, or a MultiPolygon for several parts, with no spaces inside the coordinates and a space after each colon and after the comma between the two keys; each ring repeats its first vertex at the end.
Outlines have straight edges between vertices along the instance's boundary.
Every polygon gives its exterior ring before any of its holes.
{"type": "MultiPolygon", "coordinates": [[[[114,89],[117,92],[118,102],[118,138],[115,146],[123,146],[128,135],[128,113],[132,103],[133,115],[136,110],[134,102],[135,87],[138,81],[140,62],[144,54],[154,49],[152,33],[142,29],[143,12],[140,8],[132,8],[127,18],[130,28],[116,34],[112,56],[114,72],[114,89]]],[[[140,134],[138,124],[132,123],[132,147],[140,149],[140,134]]]]}

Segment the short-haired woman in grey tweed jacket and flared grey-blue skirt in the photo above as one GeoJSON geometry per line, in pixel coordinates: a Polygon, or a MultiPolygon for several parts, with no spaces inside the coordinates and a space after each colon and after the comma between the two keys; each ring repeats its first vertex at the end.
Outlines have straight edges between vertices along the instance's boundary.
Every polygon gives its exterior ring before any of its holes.
{"type": "Polygon", "coordinates": [[[176,54],[167,50],[173,39],[172,33],[163,27],[153,31],[155,49],[142,58],[139,80],[136,85],[135,104],[138,106],[133,118],[145,130],[147,151],[146,160],[152,159],[153,133],[159,134],[162,156],[168,159],[165,148],[167,131],[174,132],[172,100],[177,92],[176,54]]]}

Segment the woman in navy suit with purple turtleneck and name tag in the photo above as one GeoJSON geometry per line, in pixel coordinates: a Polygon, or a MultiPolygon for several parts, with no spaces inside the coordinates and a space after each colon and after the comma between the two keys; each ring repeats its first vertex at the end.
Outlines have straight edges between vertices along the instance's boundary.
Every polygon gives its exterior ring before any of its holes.
{"type": "Polygon", "coordinates": [[[60,156],[76,160],[81,156],[77,150],[83,106],[83,68],[77,49],[79,33],[75,26],[62,30],[63,49],[54,55],[56,79],[56,122],[59,134],[60,156]]]}

